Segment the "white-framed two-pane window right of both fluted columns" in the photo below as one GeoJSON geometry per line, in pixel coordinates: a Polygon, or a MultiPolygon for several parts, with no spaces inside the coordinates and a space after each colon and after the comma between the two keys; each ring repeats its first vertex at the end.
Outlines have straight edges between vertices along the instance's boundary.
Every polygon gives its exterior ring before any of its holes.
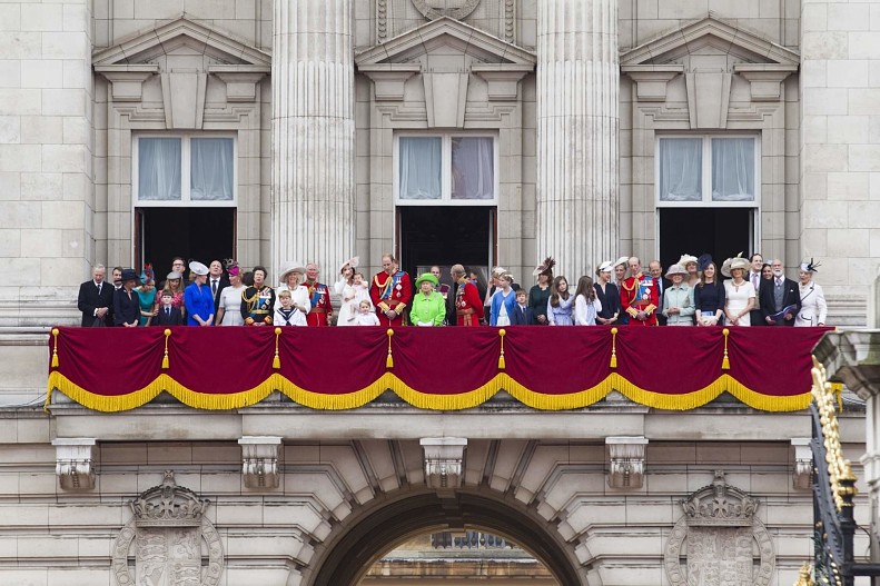
{"type": "Polygon", "coordinates": [[[659,207],[758,207],[760,153],[754,136],[657,138],[659,207]]]}

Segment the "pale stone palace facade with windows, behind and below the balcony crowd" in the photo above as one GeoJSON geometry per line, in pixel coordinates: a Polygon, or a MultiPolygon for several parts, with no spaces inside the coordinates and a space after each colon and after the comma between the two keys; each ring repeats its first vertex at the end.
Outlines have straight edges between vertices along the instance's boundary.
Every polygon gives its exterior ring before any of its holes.
{"type": "Polygon", "coordinates": [[[736,537],[740,583],[792,584],[803,414],[47,415],[47,331],[76,322],[93,264],[235,257],[274,280],[316,260],[329,279],[384,251],[520,282],[548,255],[570,279],[630,254],[814,257],[829,322],[863,325],[878,218],[880,1],[2,2],[3,582],[339,586],[414,533],[475,526],[565,585],[685,584],[736,537]],[[466,439],[452,491],[419,441],[444,437],[466,439]],[[716,491],[748,513],[680,505],[716,491]],[[198,515],[129,506],[162,495],[198,515]]]}

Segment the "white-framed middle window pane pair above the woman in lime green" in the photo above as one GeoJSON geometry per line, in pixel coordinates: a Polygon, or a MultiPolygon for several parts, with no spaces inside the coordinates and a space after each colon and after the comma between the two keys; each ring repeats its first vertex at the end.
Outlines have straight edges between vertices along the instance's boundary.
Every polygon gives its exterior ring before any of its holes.
{"type": "Polygon", "coordinates": [[[493,136],[401,135],[394,177],[399,205],[492,205],[497,201],[493,136]]]}

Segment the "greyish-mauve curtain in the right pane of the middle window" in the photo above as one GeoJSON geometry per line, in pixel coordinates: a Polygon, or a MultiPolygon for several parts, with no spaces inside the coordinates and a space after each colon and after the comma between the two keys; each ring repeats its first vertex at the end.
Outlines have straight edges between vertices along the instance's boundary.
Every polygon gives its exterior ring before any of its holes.
{"type": "Polygon", "coordinates": [[[495,156],[491,138],[452,139],[452,198],[493,199],[495,156]]]}

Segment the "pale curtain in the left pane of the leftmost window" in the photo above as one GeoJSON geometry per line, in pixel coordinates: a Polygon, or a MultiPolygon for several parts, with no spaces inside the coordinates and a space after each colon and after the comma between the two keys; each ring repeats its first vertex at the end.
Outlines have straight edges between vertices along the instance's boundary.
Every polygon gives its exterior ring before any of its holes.
{"type": "Polygon", "coordinates": [[[138,199],[180,200],[180,139],[138,139],[138,199]]]}

